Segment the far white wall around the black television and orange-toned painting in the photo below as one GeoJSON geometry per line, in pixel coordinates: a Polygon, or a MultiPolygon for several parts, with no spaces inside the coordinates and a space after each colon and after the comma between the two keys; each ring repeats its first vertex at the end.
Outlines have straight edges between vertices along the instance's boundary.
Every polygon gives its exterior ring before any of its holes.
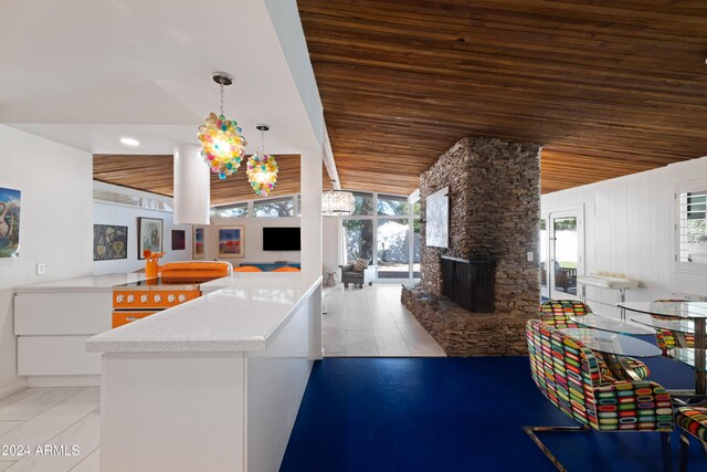
{"type": "Polygon", "coordinates": [[[263,251],[263,228],[265,227],[299,227],[299,218],[212,218],[211,224],[205,230],[207,248],[204,255],[207,260],[215,260],[219,252],[219,227],[230,225],[245,227],[244,234],[244,259],[224,259],[238,266],[245,263],[258,262],[299,262],[302,251],[263,251]]]}

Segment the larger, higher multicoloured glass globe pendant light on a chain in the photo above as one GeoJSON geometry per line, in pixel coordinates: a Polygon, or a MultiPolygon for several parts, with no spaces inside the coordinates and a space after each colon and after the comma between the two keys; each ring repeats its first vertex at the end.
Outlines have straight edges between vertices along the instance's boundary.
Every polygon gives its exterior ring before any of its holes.
{"type": "Polygon", "coordinates": [[[198,136],[203,160],[223,180],[241,167],[246,143],[235,119],[226,119],[223,113],[223,87],[233,84],[233,76],[214,72],[211,77],[221,86],[221,114],[209,114],[203,125],[199,126],[198,136]]]}

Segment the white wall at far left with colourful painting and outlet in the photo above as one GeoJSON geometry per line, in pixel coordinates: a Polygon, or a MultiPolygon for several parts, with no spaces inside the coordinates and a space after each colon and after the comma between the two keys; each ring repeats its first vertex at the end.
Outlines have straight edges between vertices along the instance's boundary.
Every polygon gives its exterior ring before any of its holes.
{"type": "Polygon", "coordinates": [[[0,125],[0,187],[21,196],[20,255],[0,259],[0,397],[17,376],[12,289],[92,273],[92,156],[0,125]],[[36,263],[46,275],[35,275],[36,263]]]}

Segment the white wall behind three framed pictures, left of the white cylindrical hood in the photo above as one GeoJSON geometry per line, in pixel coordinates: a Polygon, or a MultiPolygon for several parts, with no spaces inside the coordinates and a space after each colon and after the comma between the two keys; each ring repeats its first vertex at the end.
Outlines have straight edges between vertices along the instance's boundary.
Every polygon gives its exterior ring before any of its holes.
{"type": "Polygon", "coordinates": [[[127,259],[116,259],[113,261],[94,261],[94,274],[99,275],[134,272],[138,269],[145,269],[145,260],[137,259],[138,218],[157,218],[163,221],[162,251],[166,251],[167,254],[165,254],[162,259],[160,259],[160,264],[172,261],[189,261],[192,259],[193,229],[191,224],[173,224],[171,212],[146,210],[137,207],[128,207],[125,204],[95,201],[93,204],[93,222],[95,224],[119,224],[123,227],[128,227],[128,252],[127,259]],[[172,230],[184,230],[187,242],[183,250],[172,250],[172,230]]]}

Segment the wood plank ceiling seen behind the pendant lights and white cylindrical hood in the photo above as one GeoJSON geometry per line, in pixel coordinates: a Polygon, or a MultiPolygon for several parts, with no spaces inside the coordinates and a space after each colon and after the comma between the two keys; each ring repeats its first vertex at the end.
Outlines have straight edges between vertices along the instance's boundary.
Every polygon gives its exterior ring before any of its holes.
{"type": "MultiPolygon", "coordinates": [[[[299,155],[275,156],[279,171],[277,185],[268,198],[299,193],[299,155]]],[[[246,159],[241,162],[238,172],[225,180],[211,174],[211,206],[223,206],[261,197],[253,192],[245,174],[246,159]]],[[[205,166],[205,164],[204,164],[205,166]]],[[[123,187],[149,191],[167,197],[173,196],[175,178],[172,156],[155,155],[107,155],[93,156],[93,176],[95,180],[123,187]]],[[[323,186],[329,189],[329,178],[323,176],[323,186]]]]}

